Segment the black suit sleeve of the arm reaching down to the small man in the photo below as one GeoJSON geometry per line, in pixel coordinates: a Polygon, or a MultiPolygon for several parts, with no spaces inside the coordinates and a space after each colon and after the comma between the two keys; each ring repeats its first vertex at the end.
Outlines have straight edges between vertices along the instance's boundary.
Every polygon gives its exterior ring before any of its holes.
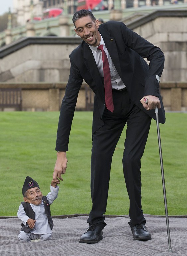
{"type": "Polygon", "coordinates": [[[57,129],[56,148],[57,151],[68,151],[69,135],[77,103],[77,97],[83,82],[77,66],[74,64],[70,54],[70,75],[66,86],[65,95],[62,100],[60,117],[57,129]]]}

